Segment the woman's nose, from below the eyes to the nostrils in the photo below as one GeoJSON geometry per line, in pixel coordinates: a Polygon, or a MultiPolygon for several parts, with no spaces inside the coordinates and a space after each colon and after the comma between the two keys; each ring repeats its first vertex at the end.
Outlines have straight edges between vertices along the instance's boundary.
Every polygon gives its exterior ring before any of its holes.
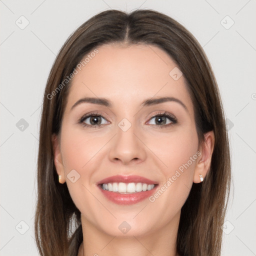
{"type": "Polygon", "coordinates": [[[126,131],[117,126],[116,135],[111,141],[109,160],[112,162],[119,161],[125,165],[131,162],[139,163],[146,158],[145,149],[143,137],[133,125],[126,131]]]}

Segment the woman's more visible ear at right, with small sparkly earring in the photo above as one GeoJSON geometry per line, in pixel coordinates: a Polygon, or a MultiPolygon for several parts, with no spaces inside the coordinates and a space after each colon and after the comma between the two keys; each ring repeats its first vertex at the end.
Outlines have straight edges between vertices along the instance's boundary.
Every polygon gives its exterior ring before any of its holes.
{"type": "Polygon", "coordinates": [[[204,133],[204,141],[199,146],[199,157],[196,161],[196,166],[194,170],[193,182],[199,183],[201,182],[200,176],[204,178],[210,168],[211,156],[214,148],[214,132],[211,130],[209,132],[204,133]]]}

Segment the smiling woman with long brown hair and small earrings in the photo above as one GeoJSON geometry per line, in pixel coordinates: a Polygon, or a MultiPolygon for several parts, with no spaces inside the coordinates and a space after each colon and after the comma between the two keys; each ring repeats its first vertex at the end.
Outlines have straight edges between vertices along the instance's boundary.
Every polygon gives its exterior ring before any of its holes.
{"type": "Polygon", "coordinates": [[[43,99],[40,255],[219,255],[229,183],[219,91],[191,33],[107,10],[71,34],[43,99]]]}

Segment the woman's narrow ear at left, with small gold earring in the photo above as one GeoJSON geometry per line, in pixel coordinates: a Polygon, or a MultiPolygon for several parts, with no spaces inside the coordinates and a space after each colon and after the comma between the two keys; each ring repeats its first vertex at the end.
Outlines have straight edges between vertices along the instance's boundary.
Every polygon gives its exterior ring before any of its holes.
{"type": "Polygon", "coordinates": [[[59,176],[59,183],[63,184],[65,183],[65,172],[64,172],[64,166],[62,162],[61,152],[60,152],[60,142],[59,137],[56,134],[53,134],[51,136],[51,143],[52,143],[52,149],[53,149],[53,155],[54,155],[54,164],[57,171],[57,174],[59,176]]]}

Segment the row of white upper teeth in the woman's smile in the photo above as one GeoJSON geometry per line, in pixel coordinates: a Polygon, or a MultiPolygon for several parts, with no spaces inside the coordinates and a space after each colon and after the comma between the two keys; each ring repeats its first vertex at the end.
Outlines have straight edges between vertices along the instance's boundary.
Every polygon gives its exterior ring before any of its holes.
{"type": "Polygon", "coordinates": [[[154,188],[154,184],[146,184],[146,183],[124,183],[124,182],[113,182],[113,183],[103,183],[102,189],[118,192],[118,193],[135,193],[146,190],[151,190],[154,188]]]}

